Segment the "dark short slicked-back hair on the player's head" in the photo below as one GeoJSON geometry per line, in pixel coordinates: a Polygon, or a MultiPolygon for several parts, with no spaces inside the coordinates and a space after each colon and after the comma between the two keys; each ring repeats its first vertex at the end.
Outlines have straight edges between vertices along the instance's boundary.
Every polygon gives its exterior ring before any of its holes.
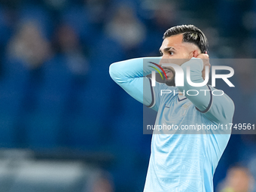
{"type": "Polygon", "coordinates": [[[163,34],[163,39],[182,33],[183,42],[196,44],[197,47],[200,48],[201,53],[206,53],[208,50],[208,40],[206,35],[204,35],[203,32],[194,25],[173,26],[166,30],[163,34]]]}

